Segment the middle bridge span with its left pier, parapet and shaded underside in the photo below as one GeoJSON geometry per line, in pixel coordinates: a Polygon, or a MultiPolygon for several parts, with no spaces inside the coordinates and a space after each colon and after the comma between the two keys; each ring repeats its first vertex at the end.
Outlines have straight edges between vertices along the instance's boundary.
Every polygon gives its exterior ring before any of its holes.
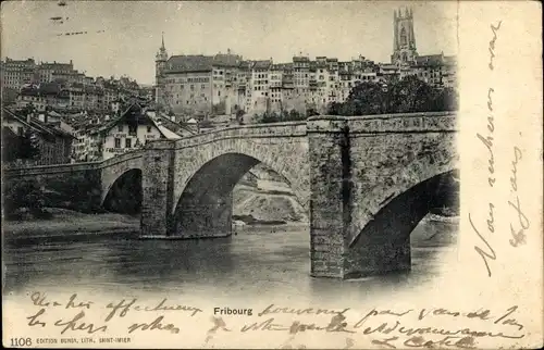
{"type": "Polygon", "coordinates": [[[144,159],[143,235],[230,235],[232,190],[261,162],[286,178],[308,208],[307,154],[306,123],[238,126],[152,142],[144,159]]]}

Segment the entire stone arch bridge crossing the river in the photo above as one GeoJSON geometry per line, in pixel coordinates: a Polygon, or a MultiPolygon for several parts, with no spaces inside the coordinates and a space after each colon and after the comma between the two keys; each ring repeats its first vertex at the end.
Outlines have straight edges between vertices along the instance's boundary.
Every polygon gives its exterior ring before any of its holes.
{"type": "Polygon", "coordinates": [[[262,162],[309,211],[311,274],[350,278],[410,268],[410,233],[458,187],[456,125],[446,112],[317,116],[157,140],[58,171],[98,172],[102,202],[141,170],[141,237],[183,239],[230,236],[232,190],[262,162]]]}

